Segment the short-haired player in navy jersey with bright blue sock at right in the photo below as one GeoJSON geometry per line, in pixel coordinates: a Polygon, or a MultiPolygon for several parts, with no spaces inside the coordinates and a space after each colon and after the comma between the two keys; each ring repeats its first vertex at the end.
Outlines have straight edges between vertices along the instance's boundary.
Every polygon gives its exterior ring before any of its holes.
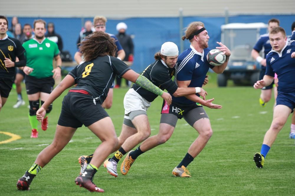
{"type": "Polygon", "coordinates": [[[263,88],[271,84],[276,73],[278,96],[271,127],[264,136],[260,153],[255,153],[253,158],[258,168],[263,167],[264,159],[278,132],[295,108],[295,41],[287,41],[286,32],[281,27],[273,28],[269,33],[269,39],[272,50],[266,55],[266,75],[254,84],[254,88],[263,88]]]}

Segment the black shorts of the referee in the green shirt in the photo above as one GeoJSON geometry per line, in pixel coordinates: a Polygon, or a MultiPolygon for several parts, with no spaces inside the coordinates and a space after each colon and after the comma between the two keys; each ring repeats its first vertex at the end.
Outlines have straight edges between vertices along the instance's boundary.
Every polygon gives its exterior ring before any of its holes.
{"type": "Polygon", "coordinates": [[[51,93],[53,91],[54,79],[53,77],[35,78],[33,76],[25,76],[27,94],[32,95],[38,92],[51,93]]]}

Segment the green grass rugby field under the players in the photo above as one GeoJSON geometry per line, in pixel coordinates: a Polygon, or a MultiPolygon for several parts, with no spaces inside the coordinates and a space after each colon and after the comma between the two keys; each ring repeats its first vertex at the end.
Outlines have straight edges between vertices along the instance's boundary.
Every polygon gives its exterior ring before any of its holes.
{"type": "MultiPolygon", "coordinates": [[[[94,183],[105,190],[104,195],[295,195],[295,145],[294,140],[289,139],[291,117],[268,153],[265,166],[258,169],[253,155],[260,152],[263,136],[271,124],[273,99],[262,108],[258,104],[260,90],[251,86],[235,87],[232,83],[227,88],[217,88],[216,75],[210,73],[209,78],[209,84],[204,87],[207,98],[215,98],[213,103],[223,108],[205,108],[214,133],[204,150],[188,166],[192,177],[180,178],[171,174],[198,136],[185,120],[178,120],[170,140],[137,158],[126,176],[119,173],[114,178],[104,167],[99,168],[94,183]]],[[[113,106],[107,110],[117,135],[122,127],[123,97],[127,90],[114,89],[113,106]]],[[[16,188],[18,178],[53,140],[65,94],[53,104],[47,131],[40,128],[39,138],[30,138],[25,90],[26,105],[18,109],[12,108],[17,99],[15,90],[10,93],[0,113],[0,131],[20,135],[21,139],[0,144],[0,195],[101,194],[89,193],[74,183],[80,171],[78,157],[91,154],[101,143],[85,127],[79,128],[72,142],[41,170],[30,191],[16,188]]],[[[158,133],[161,105],[162,99],[157,98],[148,110],[151,135],[158,133]]],[[[0,141],[9,138],[0,134],[0,141]]]]}

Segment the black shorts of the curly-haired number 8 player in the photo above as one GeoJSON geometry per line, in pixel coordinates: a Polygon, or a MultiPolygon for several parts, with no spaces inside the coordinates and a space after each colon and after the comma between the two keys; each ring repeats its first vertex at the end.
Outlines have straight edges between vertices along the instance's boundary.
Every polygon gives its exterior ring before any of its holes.
{"type": "Polygon", "coordinates": [[[82,93],[69,92],[63,98],[58,125],[78,128],[88,127],[109,115],[101,104],[95,103],[92,96],[82,93]]]}

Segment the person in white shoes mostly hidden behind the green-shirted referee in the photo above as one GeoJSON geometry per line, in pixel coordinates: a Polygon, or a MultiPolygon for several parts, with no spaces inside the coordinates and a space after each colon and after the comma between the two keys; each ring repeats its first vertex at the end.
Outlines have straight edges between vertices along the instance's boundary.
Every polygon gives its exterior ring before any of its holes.
{"type": "MultiPolygon", "coordinates": [[[[20,40],[21,44],[34,38],[34,35],[32,34],[32,26],[30,24],[24,25],[23,34],[24,36],[20,40]]],[[[21,86],[21,82],[24,80],[24,76],[25,76],[24,71],[22,71],[21,69],[17,69],[17,74],[14,80],[14,83],[16,85],[16,91],[17,91],[17,103],[12,106],[13,108],[19,108],[21,105],[25,104],[22,98],[22,86],[21,86]]]]}

